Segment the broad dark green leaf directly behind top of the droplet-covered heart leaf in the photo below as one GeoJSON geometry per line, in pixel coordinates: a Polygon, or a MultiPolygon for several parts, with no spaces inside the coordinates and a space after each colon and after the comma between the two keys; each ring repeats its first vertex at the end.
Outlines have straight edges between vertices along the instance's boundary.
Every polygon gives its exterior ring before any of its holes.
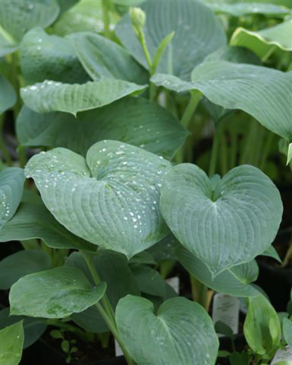
{"type": "Polygon", "coordinates": [[[22,145],[66,147],[83,156],[94,143],[115,139],[170,159],[187,131],[158,104],[125,97],[77,118],[62,112],[39,114],[24,106],[18,114],[17,135],[22,145]]]}

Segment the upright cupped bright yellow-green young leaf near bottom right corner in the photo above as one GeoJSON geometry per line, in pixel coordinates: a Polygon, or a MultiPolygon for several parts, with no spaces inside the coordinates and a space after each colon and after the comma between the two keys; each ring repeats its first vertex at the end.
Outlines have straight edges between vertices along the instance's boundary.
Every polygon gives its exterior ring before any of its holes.
{"type": "Polygon", "coordinates": [[[249,298],[243,332],[248,345],[259,355],[273,354],[281,340],[276,311],[262,294],[249,298]]]}

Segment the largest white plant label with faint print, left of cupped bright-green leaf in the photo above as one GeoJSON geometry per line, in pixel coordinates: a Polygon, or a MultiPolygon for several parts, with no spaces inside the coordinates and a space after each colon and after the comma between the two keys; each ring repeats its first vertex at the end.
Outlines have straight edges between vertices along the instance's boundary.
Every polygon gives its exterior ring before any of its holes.
{"type": "MultiPolygon", "coordinates": [[[[229,326],[233,333],[238,333],[239,306],[239,299],[235,296],[216,293],[213,299],[213,323],[221,321],[229,326]]],[[[219,337],[221,336],[223,335],[219,334],[219,337]]]]}

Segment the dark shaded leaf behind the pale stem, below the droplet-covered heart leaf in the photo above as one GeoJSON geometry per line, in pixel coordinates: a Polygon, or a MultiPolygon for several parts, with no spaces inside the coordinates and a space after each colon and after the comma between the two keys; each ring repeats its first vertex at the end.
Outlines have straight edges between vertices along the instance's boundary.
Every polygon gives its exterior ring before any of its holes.
{"type": "MultiPolygon", "coordinates": [[[[110,250],[99,249],[97,255],[93,256],[92,263],[100,279],[107,283],[107,295],[113,310],[115,310],[119,299],[125,295],[140,295],[138,284],[130,272],[125,256],[110,250]]],[[[92,275],[83,255],[74,252],[68,257],[66,265],[82,270],[92,284],[92,275]]],[[[97,333],[109,331],[107,324],[95,306],[80,313],[73,313],[71,318],[78,326],[88,331],[97,333]]]]}

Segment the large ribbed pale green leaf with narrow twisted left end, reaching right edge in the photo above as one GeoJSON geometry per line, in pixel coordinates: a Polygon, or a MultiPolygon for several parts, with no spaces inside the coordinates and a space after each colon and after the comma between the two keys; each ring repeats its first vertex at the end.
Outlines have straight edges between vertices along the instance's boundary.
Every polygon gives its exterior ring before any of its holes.
{"type": "Polygon", "coordinates": [[[155,74],[151,81],[177,92],[198,89],[212,103],[226,109],[244,110],[264,127],[292,141],[292,72],[217,61],[197,66],[192,72],[192,82],[166,74],[155,74]]]}

